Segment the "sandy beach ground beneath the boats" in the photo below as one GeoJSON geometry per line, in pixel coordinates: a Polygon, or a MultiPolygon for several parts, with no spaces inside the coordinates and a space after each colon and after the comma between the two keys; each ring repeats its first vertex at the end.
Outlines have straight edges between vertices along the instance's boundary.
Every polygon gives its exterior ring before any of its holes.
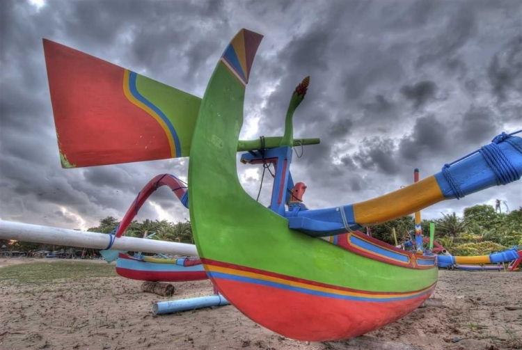
{"type": "MultiPolygon", "coordinates": [[[[63,262],[3,258],[0,269],[35,263],[63,262]]],[[[208,280],[176,283],[170,298],[140,286],[116,273],[40,283],[0,278],[0,349],[522,349],[522,310],[505,308],[522,305],[520,272],[440,271],[432,297],[443,308],[419,308],[363,337],[322,343],[281,337],[232,305],[152,315],[156,301],[211,295],[208,280]]]]}

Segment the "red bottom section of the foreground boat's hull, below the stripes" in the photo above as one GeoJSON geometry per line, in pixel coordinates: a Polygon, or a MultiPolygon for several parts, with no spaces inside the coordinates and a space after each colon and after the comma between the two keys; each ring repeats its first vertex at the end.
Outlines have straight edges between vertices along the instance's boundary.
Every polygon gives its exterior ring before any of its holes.
{"type": "Polygon", "coordinates": [[[292,339],[312,342],[347,339],[385,326],[415,310],[434,289],[413,299],[382,303],[296,293],[238,280],[212,280],[220,292],[226,291],[223,296],[234,300],[235,307],[253,321],[292,339]]]}

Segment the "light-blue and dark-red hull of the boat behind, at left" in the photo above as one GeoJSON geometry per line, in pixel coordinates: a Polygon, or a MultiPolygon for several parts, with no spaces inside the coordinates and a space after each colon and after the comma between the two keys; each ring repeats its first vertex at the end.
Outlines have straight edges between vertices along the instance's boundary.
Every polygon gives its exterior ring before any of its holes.
{"type": "Polygon", "coordinates": [[[145,280],[151,282],[184,282],[190,280],[206,280],[207,273],[203,265],[189,267],[177,264],[160,264],[134,259],[120,254],[116,262],[116,273],[131,280],[145,280]]]}

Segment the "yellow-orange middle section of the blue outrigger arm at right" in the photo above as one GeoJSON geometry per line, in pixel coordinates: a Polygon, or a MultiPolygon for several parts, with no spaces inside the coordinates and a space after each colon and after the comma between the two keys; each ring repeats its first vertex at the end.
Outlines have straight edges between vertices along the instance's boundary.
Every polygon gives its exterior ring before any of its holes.
{"type": "Polygon", "coordinates": [[[376,225],[409,215],[444,200],[434,176],[379,198],[354,204],[355,222],[361,226],[376,225]]]}

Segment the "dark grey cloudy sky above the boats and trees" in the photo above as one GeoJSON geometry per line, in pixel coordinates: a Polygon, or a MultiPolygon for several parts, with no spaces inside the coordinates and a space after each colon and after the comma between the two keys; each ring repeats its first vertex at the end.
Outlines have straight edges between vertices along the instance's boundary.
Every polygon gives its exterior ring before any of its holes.
{"type": "MultiPolygon", "coordinates": [[[[0,218],[88,228],[122,218],[159,173],[187,177],[188,159],[63,169],[42,38],[199,97],[229,40],[264,35],[242,138],[283,134],[297,83],[310,75],[296,137],[322,143],[294,157],[311,209],[399,189],[500,132],[522,129],[522,1],[0,1],[0,218]]],[[[297,149],[301,153],[301,149],[297,149]]],[[[256,196],[261,169],[239,165],[256,196]]],[[[268,202],[265,177],[261,200],[268,202]]],[[[422,216],[507,200],[520,182],[439,203],[422,216]]],[[[189,218],[166,188],[144,218],[189,218]]]]}

